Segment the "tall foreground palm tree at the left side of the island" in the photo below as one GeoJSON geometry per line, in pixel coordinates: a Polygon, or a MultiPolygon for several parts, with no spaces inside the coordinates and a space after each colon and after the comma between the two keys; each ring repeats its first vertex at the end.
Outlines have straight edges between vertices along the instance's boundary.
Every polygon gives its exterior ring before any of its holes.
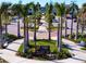
{"type": "Polygon", "coordinates": [[[28,17],[28,9],[29,9],[29,4],[23,5],[20,4],[20,9],[21,9],[21,16],[23,17],[24,21],[24,50],[23,52],[26,53],[27,49],[29,48],[29,39],[28,39],[28,22],[29,22],[29,17],[28,17]]]}

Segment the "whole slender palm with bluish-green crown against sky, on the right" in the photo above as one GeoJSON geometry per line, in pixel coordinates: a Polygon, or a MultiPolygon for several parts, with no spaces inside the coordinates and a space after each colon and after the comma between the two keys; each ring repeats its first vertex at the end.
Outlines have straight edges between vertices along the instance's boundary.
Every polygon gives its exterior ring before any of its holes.
{"type": "Polygon", "coordinates": [[[71,7],[70,7],[70,11],[72,13],[71,38],[72,38],[72,35],[73,35],[73,18],[74,18],[74,15],[76,14],[77,10],[78,10],[78,7],[74,2],[72,2],[71,7]]]}

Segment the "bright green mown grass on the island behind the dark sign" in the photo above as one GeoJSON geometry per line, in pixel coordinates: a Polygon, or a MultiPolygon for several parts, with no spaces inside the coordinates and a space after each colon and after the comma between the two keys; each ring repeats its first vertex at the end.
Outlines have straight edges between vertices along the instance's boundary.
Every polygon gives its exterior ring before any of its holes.
{"type": "MultiPolygon", "coordinates": [[[[33,47],[32,49],[35,50],[35,42],[33,40],[29,41],[29,44],[33,47]]],[[[54,40],[51,40],[51,41],[48,41],[48,40],[37,40],[36,42],[36,46],[50,46],[50,51],[51,52],[54,52],[57,51],[57,41],[54,40]]],[[[21,46],[21,48],[19,49],[19,51],[22,51],[23,50],[23,44],[21,46]]]]}

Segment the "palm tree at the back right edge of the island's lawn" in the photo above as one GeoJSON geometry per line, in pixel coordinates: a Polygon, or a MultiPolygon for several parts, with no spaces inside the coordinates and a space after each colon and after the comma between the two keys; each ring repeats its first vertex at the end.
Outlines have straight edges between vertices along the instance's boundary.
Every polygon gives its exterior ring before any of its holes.
{"type": "Polygon", "coordinates": [[[52,23],[52,18],[54,17],[52,15],[52,9],[53,9],[53,5],[50,3],[50,4],[46,4],[46,20],[48,22],[48,33],[49,33],[49,41],[51,40],[51,23],[52,23]]]}

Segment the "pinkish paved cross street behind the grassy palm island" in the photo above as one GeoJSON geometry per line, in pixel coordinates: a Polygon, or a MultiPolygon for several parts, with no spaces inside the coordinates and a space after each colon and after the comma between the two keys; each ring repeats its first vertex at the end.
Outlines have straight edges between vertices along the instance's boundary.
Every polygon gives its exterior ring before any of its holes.
{"type": "MultiPolygon", "coordinates": [[[[22,24],[21,24],[22,25],[22,24]]],[[[17,36],[17,24],[16,23],[13,23],[11,25],[8,26],[8,30],[9,30],[9,34],[12,34],[12,35],[16,35],[17,36]]],[[[75,30],[73,30],[75,33],[75,30]]],[[[52,37],[57,37],[57,30],[52,30],[51,31],[51,36],[52,37]]],[[[70,34],[70,29],[67,29],[67,34],[70,34]]],[[[23,36],[23,30],[21,30],[21,35],[23,36]]],[[[62,30],[62,35],[65,35],[65,31],[64,29],[62,30]]],[[[34,37],[34,31],[29,31],[29,36],[30,37],[34,37]]],[[[37,31],[37,38],[39,39],[48,39],[48,31],[37,31]],[[41,37],[42,36],[42,37],[41,37]]]]}

